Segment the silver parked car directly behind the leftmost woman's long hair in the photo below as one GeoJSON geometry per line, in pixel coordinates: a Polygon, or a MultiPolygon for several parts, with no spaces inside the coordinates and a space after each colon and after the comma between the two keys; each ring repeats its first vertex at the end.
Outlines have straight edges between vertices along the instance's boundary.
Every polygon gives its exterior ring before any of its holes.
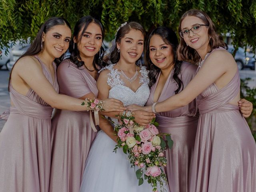
{"type": "Polygon", "coordinates": [[[12,67],[14,66],[15,62],[28,50],[30,47],[30,44],[27,43],[18,43],[16,44],[12,50],[10,51],[10,62],[7,64],[8,70],[12,70],[12,67]]]}

